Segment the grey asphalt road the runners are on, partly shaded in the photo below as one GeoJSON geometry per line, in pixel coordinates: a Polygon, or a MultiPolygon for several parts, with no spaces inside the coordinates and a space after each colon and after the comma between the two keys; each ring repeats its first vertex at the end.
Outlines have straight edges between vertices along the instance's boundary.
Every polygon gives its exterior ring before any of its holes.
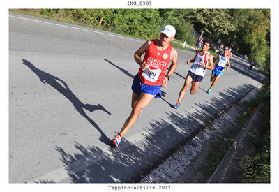
{"type": "MultiPolygon", "coordinates": [[[[116,149],[110,139],[130,115],[130,86],[144,40],[9,13],[9,182],[137,182],[204,121],[263,80],[232,59],[211,94],[211,71],[193,96],[177,100],[193,51],[178,50],[178,67],[163,98],[141,113],[116,149]]],[[[159,31],[158,31],[159,32],[159,31]]],[[[225,126],[225,125],[224,125],[225,126]]]]}

